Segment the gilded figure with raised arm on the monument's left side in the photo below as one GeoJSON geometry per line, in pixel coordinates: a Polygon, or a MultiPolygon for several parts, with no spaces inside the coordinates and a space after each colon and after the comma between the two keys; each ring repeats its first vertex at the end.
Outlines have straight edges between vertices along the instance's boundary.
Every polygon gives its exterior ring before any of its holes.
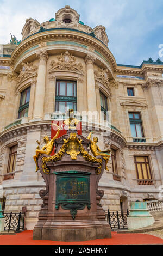
{"type": "MultiPolygon", "coordinates": [[[[56,124],[52,124],[52,125],[56,125],[56,124]]],[[[58,126],[58,125],[56,125],[56,126],[58,126]]],[[[42,147],[42,149],[40,149],[40,142],[36,141],[38,143],[38,146],[36,148],[36,155],[33,156],[33,159],[36,163],[36,171],[35,172],[37,172],[37,170],[39,170],[38,163],[37,163],[39,156],[42,154],[50,155],[52,153],[53,148],[54,148],[54,141],[56,138],[58,138],[59,132],[61,130],[59,126],[57,128],[58,128],[58,131],[57,131],[56,135],[51,139],[51,141],[49,141],[48,136],[45,136],[43,138],[43,141],[46,144],[42,147]]]]}

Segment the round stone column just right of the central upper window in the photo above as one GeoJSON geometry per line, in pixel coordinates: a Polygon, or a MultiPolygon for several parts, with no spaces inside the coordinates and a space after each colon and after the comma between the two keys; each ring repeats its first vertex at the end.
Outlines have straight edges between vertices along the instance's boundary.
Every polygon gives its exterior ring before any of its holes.
{"type": "MultiPolygon", "coordinates": [[[[95,61],[96,61],[95,56],[93,56],[90,53],[87,54],[87,56],[85,57],[86,81],[87,81],[87,106],[88,106],[88,111],[90,111],[90,112],[97,111],[95,75],[94,75],[94,70],[93,70],[93,63],[95,61]]],[[[93,121],[93,119],[92,119],[91,114],[89,114],[88,120],[93,121]]]]}

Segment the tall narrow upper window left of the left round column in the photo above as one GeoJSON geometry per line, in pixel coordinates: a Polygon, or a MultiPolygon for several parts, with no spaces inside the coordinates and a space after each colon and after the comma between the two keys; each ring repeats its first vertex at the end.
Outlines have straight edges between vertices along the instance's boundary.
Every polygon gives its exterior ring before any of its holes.
{"type": "Polygon", "coordinates": [[[20,107],[18,109],[18,118],[28,117],[29,98],[30,87],[28,87],[26,90],[23,90],[23,92],[21,93],[20,107]]]}

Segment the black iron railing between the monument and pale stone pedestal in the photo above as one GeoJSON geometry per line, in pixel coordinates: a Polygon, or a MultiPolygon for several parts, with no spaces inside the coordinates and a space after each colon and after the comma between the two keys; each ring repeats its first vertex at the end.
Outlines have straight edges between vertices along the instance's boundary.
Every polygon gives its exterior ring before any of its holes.
{"type": "Polygon", "coordinates": [[[108,221],[111,229],[127,229],[127,216],[129,215],[129,211],[121,212],[121,211],[107,211],[105,214],[105,219],[108,221]]]}

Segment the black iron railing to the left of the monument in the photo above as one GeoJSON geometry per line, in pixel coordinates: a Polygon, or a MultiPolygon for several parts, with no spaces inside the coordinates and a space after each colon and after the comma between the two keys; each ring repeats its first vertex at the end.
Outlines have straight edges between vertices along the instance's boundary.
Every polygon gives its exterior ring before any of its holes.
{"type": "Polygon", "coordinates": [[[4,212],[4,231],[20,231],[24,229],[24,214],[22,212],[4,212]]]}

